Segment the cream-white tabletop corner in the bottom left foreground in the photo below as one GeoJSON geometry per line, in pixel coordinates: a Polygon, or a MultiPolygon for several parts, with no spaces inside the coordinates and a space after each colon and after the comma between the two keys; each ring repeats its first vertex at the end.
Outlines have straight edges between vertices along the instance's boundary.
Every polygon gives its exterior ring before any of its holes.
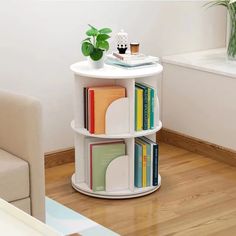
{"type": "Polygon", "coordinates": [[[0,235],[61,236],[62,234],[0,198],[0,235]]]}

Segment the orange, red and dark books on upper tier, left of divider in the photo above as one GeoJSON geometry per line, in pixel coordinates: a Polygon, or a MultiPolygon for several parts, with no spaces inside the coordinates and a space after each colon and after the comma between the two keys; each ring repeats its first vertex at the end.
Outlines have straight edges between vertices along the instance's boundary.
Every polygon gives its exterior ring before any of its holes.
{"type": "Polygon", "coordinates": [[[126,96],[121,86],[84,88],[84,128],[91,134],[105,133],[105,117],[109,105],[126,96]]]}

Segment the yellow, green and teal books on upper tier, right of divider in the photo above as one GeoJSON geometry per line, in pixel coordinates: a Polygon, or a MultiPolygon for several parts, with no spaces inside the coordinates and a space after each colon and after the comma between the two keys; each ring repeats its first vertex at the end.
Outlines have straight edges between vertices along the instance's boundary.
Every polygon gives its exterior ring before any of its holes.
{"type": "Polygon", "coordinates": [[[155,128],[155,89],[145,83],[135,83],[135,130],[155,128]]]}

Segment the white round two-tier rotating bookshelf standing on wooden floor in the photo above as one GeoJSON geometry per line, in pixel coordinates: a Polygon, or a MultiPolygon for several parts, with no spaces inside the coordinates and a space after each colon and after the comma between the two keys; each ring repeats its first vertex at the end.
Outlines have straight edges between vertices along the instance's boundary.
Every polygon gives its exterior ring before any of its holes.
{"type": "Polygon", "coordinates": [[[72,176],[72,186],[79,192],[99,198],[133,198],[157,190],[161,185],[136,188],[134,185],[134,146],[135,137],[147,136],[156,141],[162,123],[159,119],[159,100],[156,93],[155,128],[135,131],[135,82],[145,82],[157,89],[157,75],[162,73],[162,66],[156,64],[139,69],[122,69],[105,65],[102,69],[92,69],[87,61],[78,62],[71,66],[75,74],[75,119],[71,122],[75,132],[75,173],[72,176]],[[106,112],[106,133],[102,135],[90,134],[84,129],[83,88],[90,86],[120,85],[126,88],[126,98],[113,102],[106,112]],[[124,139],[126,155],[114,159],[106,171],[106,191],[92,191],[85,183],[84,141],[86,137],[104,139],[124,139]]]}

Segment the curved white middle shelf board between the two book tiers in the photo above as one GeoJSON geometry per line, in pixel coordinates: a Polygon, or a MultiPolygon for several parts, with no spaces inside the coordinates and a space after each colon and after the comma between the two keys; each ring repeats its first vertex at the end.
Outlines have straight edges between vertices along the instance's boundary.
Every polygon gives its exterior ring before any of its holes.
{"type": "Polygon", "coordinates": [[[84,128],[76,128],[74,120],[71,121],[71,128],[78,134],[82,134],[88,137],[94,138],[136,138],[147,136],[150,134],[155,134],[162,128],[162,122],[159,121],[159,124],[155,127],[155,129],[143,130],[134,133],[125,133],[125,134],[90,134],[88,130],[84,128]]]}

